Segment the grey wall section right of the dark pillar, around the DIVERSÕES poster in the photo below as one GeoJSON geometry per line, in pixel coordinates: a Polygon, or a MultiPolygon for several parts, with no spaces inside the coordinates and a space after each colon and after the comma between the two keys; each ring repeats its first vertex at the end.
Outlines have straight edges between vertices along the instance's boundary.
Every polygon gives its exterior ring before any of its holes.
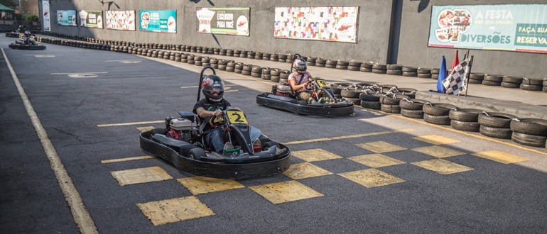
{"type": "MultiPolygon", "coordinates": [[[[439,67],[445,55],[447,68],[454,60],[455,49],[428,47],[429,25],[433,5],[495,5],[495,4],[546,4],[545,0],[404,0],[401,17],[401,36],[397,63],[416,67],[439,67]],[[428,4],[424,4],[428,2],[428,4]]],[[[467,49],[459,49],[460,61],[467,49]]],[[[473,57],[471,72],[502,74],[531,78],[546,77],[547,55],[531,52],[497,50],[470,50],[473,57]]]]}

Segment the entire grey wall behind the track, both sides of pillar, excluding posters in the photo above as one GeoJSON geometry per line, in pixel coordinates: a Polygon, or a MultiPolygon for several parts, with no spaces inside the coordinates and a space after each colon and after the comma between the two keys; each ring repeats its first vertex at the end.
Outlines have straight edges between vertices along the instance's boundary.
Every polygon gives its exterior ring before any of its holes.
{"type": "MultiPolygon", "coordinates": [[[[309,2],[309,1],[308,1],[309,2]]],[[[317,0],[313,3],[273,0],[50,0],[51,12],[58,9],[76,10],[177,10],[177,33],[150,33],[58,26],[52,18],[52,31],[104,40],[123,40],[135,43],[163,43],[197,45],[212,48],[253,50],[259,52],[299,53],[303,56],[331,60],[398,63],[416,67],[438,67],[445,55],[452,64],[455,49],[428,47],[431,7],[456,5],[453,0],[317,0]],[[104,3],[103,3],[104,2],[104,3]],[[197,2],[197,3],[196,3],[197,2]],[[250,36],[213,35],[195,33],[197,7],[251,8],[250,36]],[[334,43],[314,40],[273,38],[273,13],[276,6],[359,6],[357,43],[334,43]]],[[[545,0],[461,0],[459,5],[471,4],[546,4],[545,0]]],[[[41,4],[40,4],[41,6],[41,4]]],[[[40,14],[41,16],[42,14],[40,14]]],[[[54,14],[52,14],[54,16],[54,14]]],[[[460,59],[465,50],[460,50],[460,59]]],[[[547,55],[529,52],[471,50],[475,55],[472,72],[543,78],[547,75],[547,55]]]]}

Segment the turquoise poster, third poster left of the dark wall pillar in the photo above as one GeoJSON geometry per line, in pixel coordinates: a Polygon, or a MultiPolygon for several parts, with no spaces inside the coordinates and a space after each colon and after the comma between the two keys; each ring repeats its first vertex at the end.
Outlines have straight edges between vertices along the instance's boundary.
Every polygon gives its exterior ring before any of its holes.
{"type": "Polygon", "coordinates": [[[146,32],[176,33],[177,11],[175,10],[140,10],[139,30],[146,32]]]}

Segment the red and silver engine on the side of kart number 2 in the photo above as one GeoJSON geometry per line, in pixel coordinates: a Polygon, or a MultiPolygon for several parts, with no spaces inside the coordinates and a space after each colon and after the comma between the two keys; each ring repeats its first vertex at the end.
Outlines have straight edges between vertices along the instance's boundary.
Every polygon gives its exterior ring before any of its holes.
{"type": "Polygon", "coordinates": [[[194,138],[197,135],[197,127],[187,118],[169,116],[166,118],[166,135],[170,138],[194,143],[194,138]]]}

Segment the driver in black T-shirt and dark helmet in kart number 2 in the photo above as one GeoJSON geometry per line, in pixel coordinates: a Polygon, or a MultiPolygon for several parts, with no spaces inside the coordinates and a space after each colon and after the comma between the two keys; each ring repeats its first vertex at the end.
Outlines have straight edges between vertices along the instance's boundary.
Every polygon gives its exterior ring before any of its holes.
{"type": "MultiPolygon", "coordinates": [[[[224,82],[217,75],[210,74],[205,77],[201,82],[201,91],[205,98],[195,103],[193,112],[200,117],[202,124],[207,125],[203,135],[205,147],[213,148],[215,152],[222,154],[224,150],[234,148],[232,143],[227,141],[227,133],[222,128],[224,123],[222,111],[233,107],[228,100],[223,98],[224,82]],[[209,118],[209,123],[204,123],[207,118],[209,118]]],[[[239,110],[239,108],[235,109],[239,110]]],[[[254,140],[253,146],[261,145],[258,139],[261,135],[260,130],[250,126],[250,132],[251,140],[254,140]]]]}

